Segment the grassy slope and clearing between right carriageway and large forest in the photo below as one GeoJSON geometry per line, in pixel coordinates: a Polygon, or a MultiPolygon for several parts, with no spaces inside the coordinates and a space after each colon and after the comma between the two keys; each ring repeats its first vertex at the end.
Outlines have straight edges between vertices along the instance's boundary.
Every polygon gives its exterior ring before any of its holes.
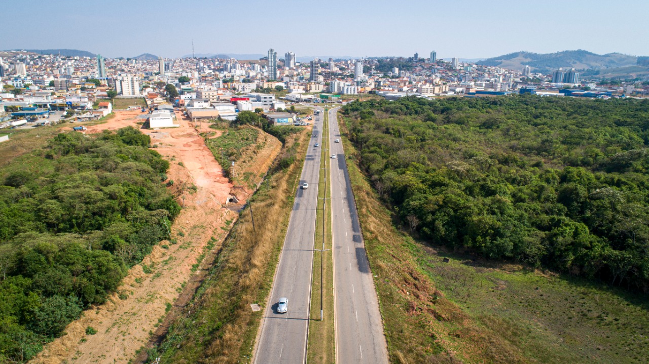
{"type": "MultiPolygon", "coordinates": [[[[358,154],[345,137],[350,161],[358,154]]],[[[440,253],[393,225],[348,163],[392,363],[641,363],[646,297],[440,253]],[[443,262],[443,258],[450,261],[443,262]]]]}

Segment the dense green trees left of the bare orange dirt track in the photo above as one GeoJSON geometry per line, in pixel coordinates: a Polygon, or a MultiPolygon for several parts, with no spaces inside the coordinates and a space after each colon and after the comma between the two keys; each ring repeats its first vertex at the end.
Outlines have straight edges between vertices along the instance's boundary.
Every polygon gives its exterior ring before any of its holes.
{"type": "Polygon", "coordinates": [[[23,362],[169,236],[169,163],[134,128],[56,135],[0,172],[0,362],[23,362]]]}

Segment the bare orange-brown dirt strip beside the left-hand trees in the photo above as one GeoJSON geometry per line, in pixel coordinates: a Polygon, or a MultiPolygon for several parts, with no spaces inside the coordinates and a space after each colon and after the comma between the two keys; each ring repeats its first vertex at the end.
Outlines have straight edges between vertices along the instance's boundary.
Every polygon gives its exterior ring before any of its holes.
{"type": "MultiPolygon", "coordinates": [[[[136,123],[145,119],[138,115],[143,114],[117,111],[109,122],[90,126],[86,133],[139,128],[136,123]]],[[[204,273],[201,269],[212,262],[238,214],[226,208],[233,186],[221,166],[188,120],[180,113],[177,117],[180,128],[142,130],[151,136],[154,150],[170,162],[167,177],[173,185],[169,188],[185,207],[171,227],[176,244],[156,245],[151,255],[130,269],[106,304],[86,310],[67,326],[66,335],[46,345],[32,363],[128,363],[151,334],[164,330],[160,323],[171,305],[183,306],[191,299],[204,273]],[[97,334],[86,334],[88,327],[97,334]]],[[[207,123],[203,124],[206,131],[207,123]]],[[[271,164],[265,159],[274,157],[279,148],[275,151],[273,143],[262,148],[254,163],[258,173],[265,173],[271,164]]]]}

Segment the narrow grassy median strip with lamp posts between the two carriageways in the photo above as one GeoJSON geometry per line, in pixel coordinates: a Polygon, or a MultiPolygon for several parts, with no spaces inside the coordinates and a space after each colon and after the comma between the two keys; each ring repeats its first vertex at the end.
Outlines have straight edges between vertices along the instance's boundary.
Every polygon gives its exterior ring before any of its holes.
{"type": "Polygon", "coordinates": [[[331,163],[328,156],[329,128],[328,115],[324,113],[323,138],[320,148],[320,185],[318,188],[318,203],[315,216],[315,249],[329,249],[323,253],[315,252],[313,256],[313,285],[311,291],[311,323],[309,324],[309,343],[306,350],[309,363],[335,363],[336,348],[334,337],[334,269],[332,266],[331,240],[331,181],[329,168],[331,163]],[[326,188],[325,186],[326,181],[326,188]],[[326,210],[323,210],[326,202],[326,210]],[[324,235],[323,235],[324,227],[324,235]],[[321,269],[324,259],[324,269],[321,269]],[[321,300],[321,271],[324,272],[323,299],[321,300]],[[322,301],[322,302],[321,302],[322,301]],[[321,303],[324,310],[324,320],[320,321],[321,303]]]}

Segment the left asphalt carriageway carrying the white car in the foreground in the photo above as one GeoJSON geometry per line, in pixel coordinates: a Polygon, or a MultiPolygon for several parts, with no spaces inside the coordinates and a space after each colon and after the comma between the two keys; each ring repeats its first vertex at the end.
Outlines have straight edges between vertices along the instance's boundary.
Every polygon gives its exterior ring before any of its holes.
{"type": "Polygon", "coordinates": [[[291,212],[280,262],[269,297],[262,332],[254,354],[255,364],[304,363],[308,334],[311,297],[313,238],[315,235],[315,209],[317,207],[320,153],[322,144],[323,113],[313,117],[313,133],[306,152],[299,186],[308,183],[309,188],[298,188],[291,212]],[[278,313],[277,302],[288,299],[288,312],[278,313]]]}

